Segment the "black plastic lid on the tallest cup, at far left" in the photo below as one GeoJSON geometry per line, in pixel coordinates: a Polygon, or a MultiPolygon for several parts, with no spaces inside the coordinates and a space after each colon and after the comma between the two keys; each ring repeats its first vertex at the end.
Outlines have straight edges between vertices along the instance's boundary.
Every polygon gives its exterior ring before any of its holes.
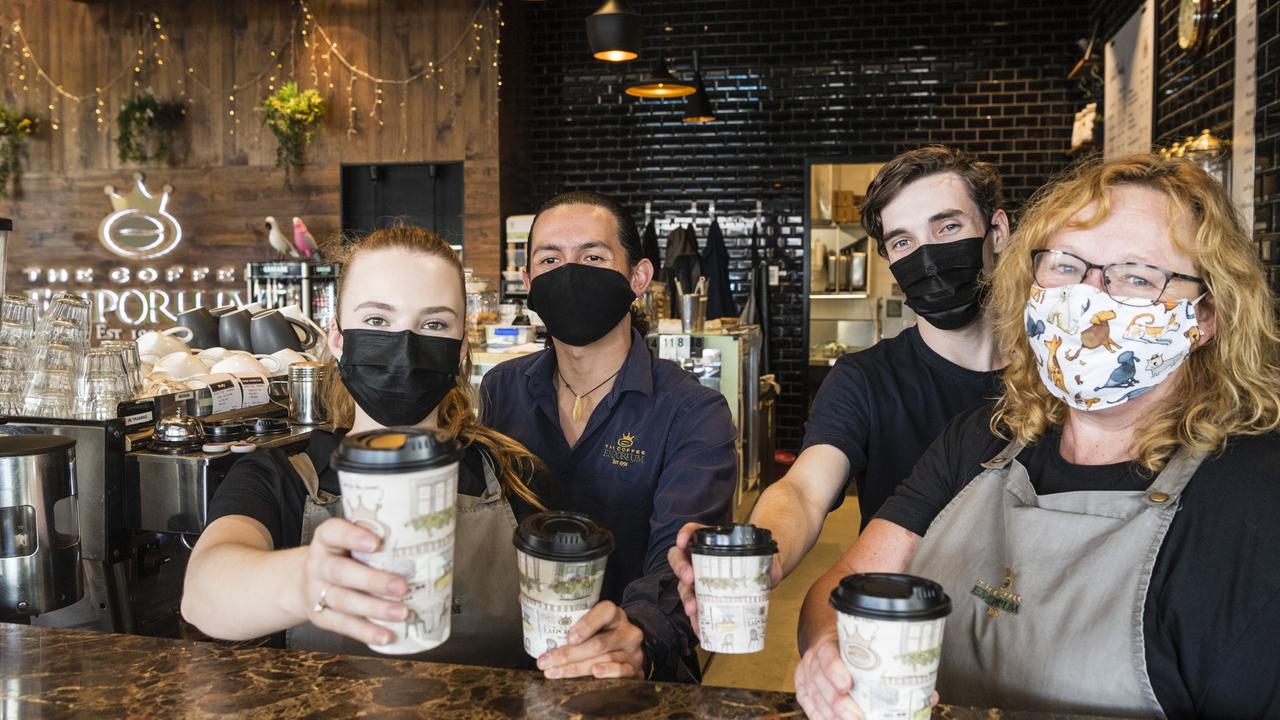
{"type": "Polygon", "coordinates": [[[333,468],[347,473],[406,473],[457,462],[457,441],[422,428],[383,428],[342,438],[333,468]]]}

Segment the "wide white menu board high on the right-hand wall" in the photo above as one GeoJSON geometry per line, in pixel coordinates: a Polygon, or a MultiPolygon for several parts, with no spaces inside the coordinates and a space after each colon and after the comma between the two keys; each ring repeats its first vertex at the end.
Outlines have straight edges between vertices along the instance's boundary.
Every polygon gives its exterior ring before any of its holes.
{"type": "Polygon", "coordinates": [[[1105,70],[1103,159],[1151,152],[1156,97],[1156,13],[1151,0],[1107,42],[1105,70]]]}

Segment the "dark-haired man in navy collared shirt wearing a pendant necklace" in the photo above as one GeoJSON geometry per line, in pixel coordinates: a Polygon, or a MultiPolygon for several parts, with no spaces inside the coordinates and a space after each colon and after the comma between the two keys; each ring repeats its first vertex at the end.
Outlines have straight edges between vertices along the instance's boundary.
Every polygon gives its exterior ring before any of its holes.
{"type": "Polygon", "coordinates": [[[549,506],[591,515],[616,542],[600,603],[538,666],[548,678],[696,680],[696,638],[667,551],[685,523],[731,518],[728,404],[653,357],[634,327],[643,319],[632,304],[654,268],[616,201],[591,192],[552,199],[534,218],[529,259],[529,307],[550,347],[489,370],[483,420],[547,462],[549,506]]]}

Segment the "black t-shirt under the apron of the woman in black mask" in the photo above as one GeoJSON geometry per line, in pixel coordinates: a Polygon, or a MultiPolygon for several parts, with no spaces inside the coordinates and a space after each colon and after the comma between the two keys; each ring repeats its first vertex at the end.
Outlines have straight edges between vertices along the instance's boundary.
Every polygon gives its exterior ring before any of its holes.
{"type": "MultiPolygon", "coordinates": [[[[307,455],[320,475],[320,489],[342,495],[338,486],[338,471],[329,466],[333,451],[342,442],[344,430],[328,433],[315,430],[307,445],[307,455]]],[[[484,454],[479,445],[467,446],[458,464],[458,495],[480,497],[484,495],[484,454]]],[[[538,492],[538,483],[525,479],[526,484],[538,492]]],[[[209,503],[209,521],[227,515],[244,515],[262,523],[271,533],[275,550],[297,547],[302,538],[302,511],[306,505],[307,488],[302,478],[289,464],[282,450],[259,450],[251,452],[232,465],[227,478],[218,486],[209,503]]],[[[515,493],[507,493],[507,501],[516,514],[516,520],[534,512],[536,509],[515,493]]]]}

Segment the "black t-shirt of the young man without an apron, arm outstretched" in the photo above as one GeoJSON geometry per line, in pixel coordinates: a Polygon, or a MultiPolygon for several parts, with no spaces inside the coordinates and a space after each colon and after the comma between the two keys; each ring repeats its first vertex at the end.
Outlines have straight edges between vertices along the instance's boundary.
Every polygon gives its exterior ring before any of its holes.
{"type": "MultiPolygon", "coordinates": [[[[942,428],[1000,392],[998,370],[961,368],[908,328],[836,360],[814,397],[804,447],[829,445],[845,454],[865,528],[942,428]]],[[[841,502],[844,493],[832,510],[841,502]]]]}

